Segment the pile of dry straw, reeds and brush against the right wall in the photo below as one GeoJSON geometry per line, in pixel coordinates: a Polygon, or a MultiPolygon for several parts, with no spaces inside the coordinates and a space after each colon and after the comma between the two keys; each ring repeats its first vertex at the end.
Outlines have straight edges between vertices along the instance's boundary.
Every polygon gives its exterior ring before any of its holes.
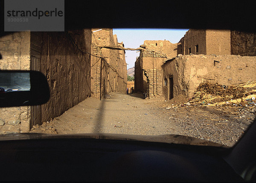
{"type": "Polygon", "coordinates": [[[201,83],[189,101],[192,104],[222,105],[222,104],[255,104],[256,81],[239,85],[225,86],[209,82],[201,83]]]}

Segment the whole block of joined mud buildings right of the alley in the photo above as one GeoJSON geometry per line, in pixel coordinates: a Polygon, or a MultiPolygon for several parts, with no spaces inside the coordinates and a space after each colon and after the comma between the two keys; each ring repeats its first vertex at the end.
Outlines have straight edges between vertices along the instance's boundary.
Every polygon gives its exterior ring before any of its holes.
{"type": "Polygon", "coordinates": [[[205,81],[231,85],[256,80],[255,33],[189,29],[176,44],[146,40],[144,45],[135,62],[135,90],[150,99],[191,98],[205,81]]]}

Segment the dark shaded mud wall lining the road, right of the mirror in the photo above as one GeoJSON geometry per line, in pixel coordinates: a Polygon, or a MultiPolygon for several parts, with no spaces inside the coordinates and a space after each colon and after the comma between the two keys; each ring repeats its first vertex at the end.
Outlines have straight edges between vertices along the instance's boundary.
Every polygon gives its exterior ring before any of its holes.
{"type": "Polygon", "coordinates": [[[47,77],[51,97],[41,106],[41,121],[61,115],[90,96],[90,43],[90,29],[42,33],[40,70],[47,77]]]}

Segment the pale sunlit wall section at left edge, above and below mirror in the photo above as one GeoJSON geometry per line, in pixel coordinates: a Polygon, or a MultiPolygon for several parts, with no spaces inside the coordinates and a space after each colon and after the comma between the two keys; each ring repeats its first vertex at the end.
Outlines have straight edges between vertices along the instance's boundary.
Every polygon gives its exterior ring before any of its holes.
{"type": "MultiPolygon", "coordinates": [[[[30,69],[30,32],[15,32],[0,37],[1,70],[30,69]]],[[[0,134],[27,132],[30,106],[0,108],[0,134]]]]}

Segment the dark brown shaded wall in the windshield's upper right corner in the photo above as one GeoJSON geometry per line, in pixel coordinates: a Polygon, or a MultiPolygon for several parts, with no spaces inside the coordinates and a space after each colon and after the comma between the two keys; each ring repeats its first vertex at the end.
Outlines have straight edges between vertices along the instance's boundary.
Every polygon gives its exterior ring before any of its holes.
{"type": "Polygon", "coordinates": [[[231,31],[231,54],[256,56],[256,33],[231,31]]]}

